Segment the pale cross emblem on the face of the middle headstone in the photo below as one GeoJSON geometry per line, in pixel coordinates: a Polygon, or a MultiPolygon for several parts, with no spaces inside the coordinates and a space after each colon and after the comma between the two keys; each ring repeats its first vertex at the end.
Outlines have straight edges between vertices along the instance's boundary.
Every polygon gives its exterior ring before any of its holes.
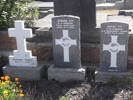
{"type": "Polygon", "coordinates": [[[72,40],[68,35],[68,30],[63,30],[63,37],[55,40],[56,45],[61,45],[64,52],[64,62],[70,62],[69,59],[69,48],[72,45],[77,45],[76,40],[72,40]]]}

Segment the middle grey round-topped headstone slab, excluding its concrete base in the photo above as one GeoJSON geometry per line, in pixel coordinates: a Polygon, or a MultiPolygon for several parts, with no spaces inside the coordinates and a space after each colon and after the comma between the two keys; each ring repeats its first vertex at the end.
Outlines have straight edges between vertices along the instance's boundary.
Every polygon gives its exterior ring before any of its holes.
{"type": "Polygon", "coordinates": [[[80,19],[75,16],[56,16],[52,19],[55,67],[79,68],[80,19]]]}

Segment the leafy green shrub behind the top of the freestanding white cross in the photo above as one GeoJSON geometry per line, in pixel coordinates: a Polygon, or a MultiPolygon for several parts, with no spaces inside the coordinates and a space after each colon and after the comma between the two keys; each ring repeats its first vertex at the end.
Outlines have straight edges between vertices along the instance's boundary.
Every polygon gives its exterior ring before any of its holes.
{"type": "Polygon", "coordinates": [[[14,20],[24,20],[26,27],[33,27],[38,10],[31,7],[32,0],[0,0],[0,30],[13,26],[14,20]]]}

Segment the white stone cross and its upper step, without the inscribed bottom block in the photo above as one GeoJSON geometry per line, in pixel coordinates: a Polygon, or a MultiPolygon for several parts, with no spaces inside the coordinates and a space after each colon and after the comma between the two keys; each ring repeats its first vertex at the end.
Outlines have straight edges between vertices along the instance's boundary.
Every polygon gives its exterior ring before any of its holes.
{"type": "Polygon", "coordinates": [[[16,37],[17,43],[17,51],[14,52],[14,56],[18,58],[25,58],[29,57],[30,53],[26,52],[26,38],[32,37],[32,30],[31,29],[24,29],[24,22],[23,21],[15,21],[15,29],[9,29],[9,37],[16,37]],[[25,56],[24,54],[29,56],[25,56]],[[19,56],[18,56],[19,55],[19,56]]]}

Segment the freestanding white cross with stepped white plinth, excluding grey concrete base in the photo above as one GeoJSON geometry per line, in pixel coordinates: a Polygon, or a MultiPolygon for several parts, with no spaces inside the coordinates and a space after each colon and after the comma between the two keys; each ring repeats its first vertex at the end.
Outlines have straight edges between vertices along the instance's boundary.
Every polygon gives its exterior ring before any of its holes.
{"type": "Polygon", "coordinates": [[[26,47],[26,38],[32,37],[32,30],[24,28],[24,21],[15,21],[15,28],[9,28],[8,35],[16,38],[18,49],[14,50],[14,56],[9,56],[9,65],[36,67],[37,58],[33,57],[31,51],[28,51],[26,47]]]}

